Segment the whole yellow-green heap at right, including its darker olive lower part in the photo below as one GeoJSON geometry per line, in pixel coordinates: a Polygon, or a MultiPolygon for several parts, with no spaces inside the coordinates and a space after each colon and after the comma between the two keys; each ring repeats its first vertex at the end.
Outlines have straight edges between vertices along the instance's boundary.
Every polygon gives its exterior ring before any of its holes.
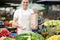
{"type": "Polygon", "coordinates": [[[60,20],[49,20],[43,23],[48,31],[48,35],[52,36],[60,32],[60,20]]]}

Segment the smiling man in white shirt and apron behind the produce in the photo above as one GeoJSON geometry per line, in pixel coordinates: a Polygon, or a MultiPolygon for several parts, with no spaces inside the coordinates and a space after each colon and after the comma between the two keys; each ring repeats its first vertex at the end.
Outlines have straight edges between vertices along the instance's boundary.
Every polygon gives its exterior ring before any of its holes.
{"type": "Polygon", "coordinates": [[[30,16],[32,15],[33,10],[28,8],[29,0],[22,0],[21,1],[21,8],[16,10],[14,13],[13,22],[14,25],[17,27],[17,33],[25,33],[32,31],[33,25],[30,23],[30,16]]]}

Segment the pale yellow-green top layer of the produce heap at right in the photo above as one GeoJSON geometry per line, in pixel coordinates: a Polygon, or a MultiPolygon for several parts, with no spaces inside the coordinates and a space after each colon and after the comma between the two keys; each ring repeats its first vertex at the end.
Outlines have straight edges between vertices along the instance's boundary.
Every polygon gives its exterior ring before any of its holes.
{"type": "Polygon", "coordinates": [[[60,20],[49,20],[43,23],[46,27],[55,26],[57,29],[60,28],[60,20]]]}

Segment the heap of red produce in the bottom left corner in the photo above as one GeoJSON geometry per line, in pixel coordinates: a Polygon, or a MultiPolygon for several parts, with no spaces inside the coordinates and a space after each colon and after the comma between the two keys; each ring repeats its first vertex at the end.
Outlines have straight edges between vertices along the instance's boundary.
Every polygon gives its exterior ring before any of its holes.
{"type": "Polygon", "coordinates": [[[11,33],[6,29],[2,28],[0,31],[0,40],[15,40],[15,36],[11,36],[11,33]]]}

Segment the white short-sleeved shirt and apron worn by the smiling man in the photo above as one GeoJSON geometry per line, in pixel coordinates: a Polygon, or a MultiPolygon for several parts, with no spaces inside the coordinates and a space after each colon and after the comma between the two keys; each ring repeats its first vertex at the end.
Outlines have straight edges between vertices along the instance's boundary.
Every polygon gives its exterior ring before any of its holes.
{"type": "Polygon", "coordinates": [[[16,10],[16,12],[14,13],[14,17],[18,18],[17,23],[19,24],[19,26],[21,25],[26,28],[25,30],[17,28],[18,34],[32,31],[30,28],[30,16],[32,13],[34,13],[32,9],[23,10],[21,8],[16,10]]]}

